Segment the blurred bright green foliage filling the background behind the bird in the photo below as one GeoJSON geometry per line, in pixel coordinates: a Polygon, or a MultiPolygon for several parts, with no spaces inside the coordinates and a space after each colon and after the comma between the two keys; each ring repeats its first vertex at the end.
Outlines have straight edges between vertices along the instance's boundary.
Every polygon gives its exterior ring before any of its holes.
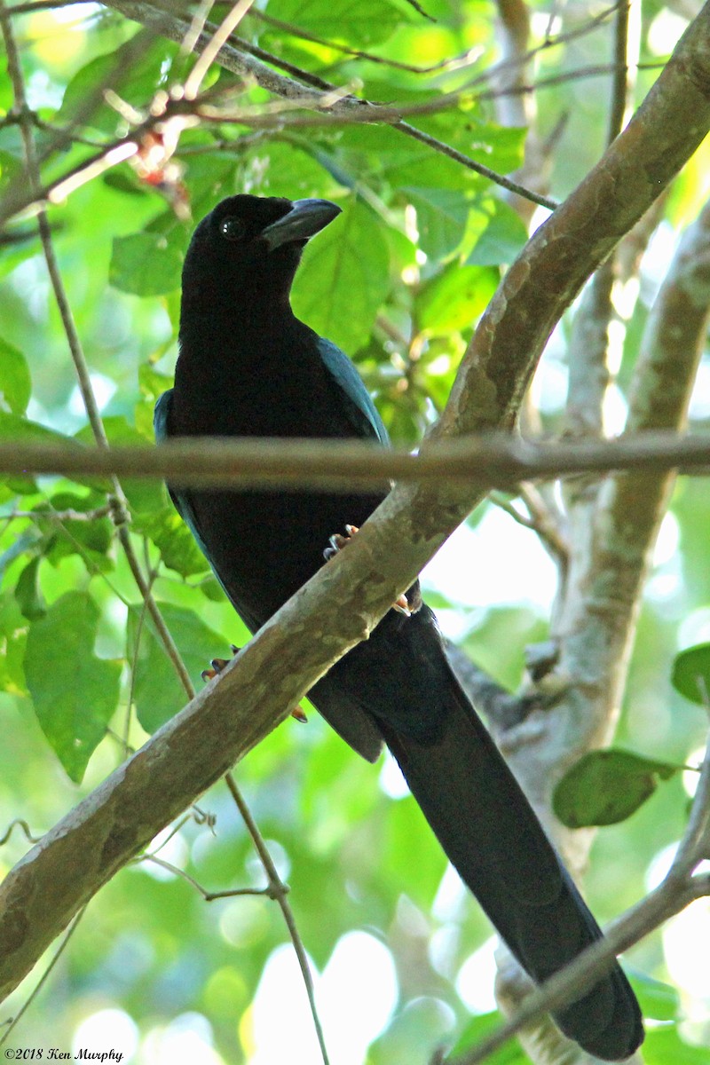
{"type": "MultiPolygon", "coordinates": [[[[279,61],[361,88],[370,100],[427,104],[465,87],[458,103],[415,115],[413,124],[511,174],[523,161],[525,132],[497,124],[495,101],[476,95],[486,87],[484,80],[468,86],[498,54],[493,7],[483,0],[431,0],[425,9],[426,15],[404,0],[354,5],[268,0],[244,20],[240,33],[279,61]],[[307,35],[284,22],[297,23],[307,35]],[[375,58],[358,54],[361,50],[375,58]],[[455,56],[464,59],[448,63],[455,56]]],[[[225,11],[217,5],[213,17],[225,11]]],[[[639,72],[638,100],[657,76],[654,63],[682,28],[674,11],[657,2],[644,5],[641,58],[649,65],[639,72]]],[[[548,7],[533,4],[533,40],[542,43],[548,31],[578,30],[591,14],[587,5],[564,14],[555,9],[550,15],[548,7]]],[[[13,23],[46,182],[69,175],[102,144],[123,136],[129,109],[147,114],[156,92],[179,83],[192,62],[176,44],[137,37],[135,23],[95,4],[24,12],[13,23]],[[108,86],[122,103],[104,96],[108,86]],[[75,121],[73,135],[53,144],[56,131],[75,121]]],[[[552,78],[605,64],[610,54],[608,20],[564,46],[546,47],[536,56],[534,75],[552,78]]],[[[257,109],[267,99],[263,89],[244,86],[217,68],[205,85],[214,99],[236,101],[236,106],[257,109]]],[[[609,82],[598,75],[558,79],[536,94],[539,132],[551,147],[556,197],[564,197],[602,150],[608,102],[609,82]]],[[[26,178],[5,80],[0,80],[0,109],[5,116],[0,122],[2,190],[16,194],[26,178]]],[[[657,233],[661,251],[646,257],[641,299],[614,386],[617,410],[624,410],[668,249],[706,195],[707,152],[701,148],[676,182],[657,233]]],[[[381,126],[309,128],[286,121],[269,131],[246,121],[201,122],[184,131],[176,160],[195,220],[221,197],[242,191],[320,196],[342,206],[337,227],[306,251],[294,304],[311,326],[354,358],[393,438],[411,445],[418,441],[446,402],[501,272],[525,241],[525,226],[511,203],[456,160],[381,126]]],[[[152,406],[169,387],[177,354],[180,266],[193,222],[179,217],[161,189],[142,180],[129,162],[52,206],[49,222],[109,439],[150,440],[152,406]]],[[[0,245],[0,439],[90,443],[32,218],[13,232],[22,239],[0,245]]],[[[568,334],[565,323],[532,392],[549,432],[561,424],[568,334]]],[[[709,372],[706,356],[706,392],[698,390],[691,412],[696,426],[710,416],[709,372]]],[[[117,543],[105,508],[106,487],[21,474],[0,482],[0,808],[7,825],[23,818],[36,834],[119,765],[126,744],[139,746],[183,703],[117,543]]],[[[227,656],[229,644],[244,643],[247,633],[205,571],[164,489],[139,482],[125,489],[136,547],[199,685],[209,659],[227,656]]],[[[588,885],[602,920],[641,897],[653,880],[654,861],[682,831],[687,793],[680,776],[674,771],[662,787],[657,776],[666,775],[668,761],[673,768],[697,760],[705,737],[703,710],[683,699],[698,701],[697,661],[677,659],[677,691],[670,676],[676,648],[697,644],[710,632],[709,499],[704,481],[679,484],[662,537],[671,548],[659,556],[643,606],[620,726],[620,741],[639,756],[616,752],[611,758],[618,804],[617,816],[607,820],[635,813],[599,833],[588,885]],[[653,798],[637,808],[637,798],[651,791],[653,798]]],[[[465,650],[515,688],[524,648],[546,637],[555,588],[550,583],[541,596],[535,562],[521,575],[514,597],[465,594],[460,578],[477,564],[477,552],[484,556],[485,573],[496,571],[501,586],[518,551],[538,551],[534,557],[543,558],[542,548],[530,547],[533,535],[510,518],[502,519],[505,537],[486,532],[497,518],[491,506],[475,515],[459,579],[447,589],[431,587],[430,600],[465,650]]],[[[707,645],[694,653],[703,657],[707,675],[707,645]]],[[[437,1044],[463,1050],[496,1022],[484,1004],[481,1015],[472,1017],[469,989],[459,979],[490,930],[463,890],[451,886],[437,845],[391,769],[359,760],[312,711],[307,726],[287,722],[238,767],[241,786],[291,886],[298,928],[318,972],[353,929],[390,951],[397,1000],[392,1015],[371,1032],[370,1065],[425,1060],[437,1044]]],[[[592,793],[609,786],[608,776],[602,784],[598,775],[591,785],[588,780],[592,793]]],[[[595,820],[583,794],[575,803],[576,823],[595,820]]],[[[160,855],[210,891],[262,888],[264,872],[224,787],[202,797],[199,807],[207,819],[193,812],[179,832],[166,835],[160,855]]],[[[0,836],[4,830],[0,823],[0,836]]],[[[0,850],[3,871],[26,849],[15,828],[0,850]]],[[[127,1045],[135,1033],[143,1041],[138,1061],[162,1060],[161,1047],[166,1053],[171,1047],[175,1060],[177,1044],[169,1039],[183,1031],[183,1021],[197,1039],[188,1044],[191,1060],[248,1060],[259,1050],[261,981],[284,941],[280,912],[266,897],[208,905],[187,880],[154,863],[134,864],[92,901],[43,997],[11,1043],[31,1039],[35,1046],[68,1049],[72,1039],[83,1045],[94,1015],[104,1025],[110,1017],[117,1023],[120,1016],[120,1031],[133,1032],[126,1035],[127,1045]],[[114,1013],[101,1012],[109,1010],[114,1013]]],[[[707,993],[698,1002],[682,985],[670,987],[660,936],[637,948],[631,963],[656,978],[637,981],[647,1016],[662,1025],[648,1036],[645,1060],[664,1065],[710,1061],[701,1049],[710,1041],[707,993]]],[[[491,978],[486,970],[484,982],[491,978]]],[[[359,996],[374,979],[368,971],[352,973],[345,1003],[351,1014],[358,1015],[359,996]]],[[[13,996],[7,1015],[17,1012],[34,982],[36,976],[30,977],[13,996]]],[[[297,978],[283,994],[300,1002],[297,978]]],[[[271,1003],[276,1027],[281,1009],[285,1013],[283,1000],[271,1003]]],[[[327,1014],[324,1005],[326,1023],[327,1014]]],[[[294,1045],[293,1058],[306,1060],[306,1052],[294,1045]]],[[[515,1045],[492,1059],[510,1065],[525,1060],[515,1045]]]]}

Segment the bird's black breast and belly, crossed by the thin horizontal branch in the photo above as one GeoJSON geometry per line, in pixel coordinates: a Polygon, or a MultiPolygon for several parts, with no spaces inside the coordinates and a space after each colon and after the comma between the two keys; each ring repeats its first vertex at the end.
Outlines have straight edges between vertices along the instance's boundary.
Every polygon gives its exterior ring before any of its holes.
{"type": "MultiPolygon", "coordinates": [[[[166,436],[373,439],[324,361],[319,338],[298,320],[259,338],[219,332],[219,342],[204,332],[183,337],[166,436]]],[[[210,545],[213,568],[252,629],[323,566],[329,538],[346,524],[362,525],[383,495],[180,493],[181,509],[189,508],[194,531],[210,545]]]]}

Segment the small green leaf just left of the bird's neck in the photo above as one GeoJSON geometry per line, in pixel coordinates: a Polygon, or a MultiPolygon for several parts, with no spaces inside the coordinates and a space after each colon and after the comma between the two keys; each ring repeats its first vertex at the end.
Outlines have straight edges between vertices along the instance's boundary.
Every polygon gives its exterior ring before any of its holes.
{"type": "Polygon", "coordinates": [[[182,255],[162,233],[115,236],[109,281],[134,296],[162,296],[180,288],[182,255]]]}

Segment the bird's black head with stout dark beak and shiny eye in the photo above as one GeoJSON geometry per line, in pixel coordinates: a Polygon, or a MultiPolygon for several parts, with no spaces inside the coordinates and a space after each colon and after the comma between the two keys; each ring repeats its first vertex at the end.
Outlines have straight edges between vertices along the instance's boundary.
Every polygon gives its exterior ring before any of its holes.
{"type": "Polygon", "coordinates": [[[182,274],[183,301],[228,301],[238,312],[288,293],[311,236],[341,213],[329,200],[230,196],[202,218],[182,274]],[[242,306],[240,306],[240,304],[242,306]]]}

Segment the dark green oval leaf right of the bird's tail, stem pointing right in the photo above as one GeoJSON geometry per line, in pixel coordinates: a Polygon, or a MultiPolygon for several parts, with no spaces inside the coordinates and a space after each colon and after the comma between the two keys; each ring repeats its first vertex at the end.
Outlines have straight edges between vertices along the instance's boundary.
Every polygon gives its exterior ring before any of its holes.
{"type": "Polygon", "coordinates": [[[568,829],[616,824],[654,793],[657,777],[667,781],[683,768],[642,758],[630,751],[590,751],[557,785],[552,807],[568,829]]]}

